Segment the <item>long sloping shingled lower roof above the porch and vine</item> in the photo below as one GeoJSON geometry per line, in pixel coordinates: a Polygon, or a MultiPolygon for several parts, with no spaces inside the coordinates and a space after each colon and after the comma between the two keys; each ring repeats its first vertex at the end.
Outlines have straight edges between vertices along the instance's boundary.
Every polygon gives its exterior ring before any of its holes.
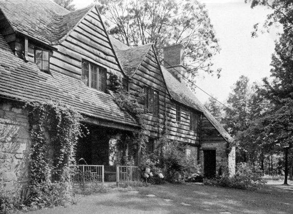
{"type": "Polygon", "coordinates": [[[85,86],[80,79],[54,71],[51,74],[41,72],[35,63],[15,56],[1,35],[0,97],[58,99],[86,116],[139,126],[135,119],[120,110],[111,95],[85,86]]]}

